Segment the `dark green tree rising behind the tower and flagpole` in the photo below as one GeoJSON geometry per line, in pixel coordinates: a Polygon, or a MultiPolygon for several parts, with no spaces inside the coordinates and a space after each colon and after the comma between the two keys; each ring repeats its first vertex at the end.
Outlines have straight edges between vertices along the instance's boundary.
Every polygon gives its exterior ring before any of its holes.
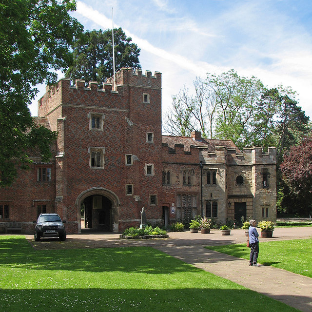
{"type": "MultiPolygon", "coordinates": [[[[116,71],[122,67],[141,68],[140,49],[121,28],[114,29],[116,71]]],[[[86,31],[73,45],[74,63],[66,72],[73,80],[105,82],[113,76],[112,30],[86,31]]]]}

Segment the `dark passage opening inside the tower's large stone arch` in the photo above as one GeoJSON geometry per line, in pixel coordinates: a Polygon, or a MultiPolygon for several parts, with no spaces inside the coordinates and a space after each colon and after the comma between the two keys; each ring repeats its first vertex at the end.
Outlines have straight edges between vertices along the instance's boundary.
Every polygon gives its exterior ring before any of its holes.
{"type": "Polygon", "coordinates": [[[81,229],[112,231],[112,202],[102,195],[86,197],[81,204],[81,229]]]}

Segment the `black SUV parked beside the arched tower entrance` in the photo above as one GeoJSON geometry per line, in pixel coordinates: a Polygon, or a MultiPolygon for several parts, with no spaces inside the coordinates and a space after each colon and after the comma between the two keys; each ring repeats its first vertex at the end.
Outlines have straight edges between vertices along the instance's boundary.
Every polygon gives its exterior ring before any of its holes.
{"type": "Polygon", "coordinates": [[[60,240],[66,239],[66,231],[62,219],[58,214],[41,214],[38,217],[35,227],[35,240],[41,237],[59,237],[60,240]]]}

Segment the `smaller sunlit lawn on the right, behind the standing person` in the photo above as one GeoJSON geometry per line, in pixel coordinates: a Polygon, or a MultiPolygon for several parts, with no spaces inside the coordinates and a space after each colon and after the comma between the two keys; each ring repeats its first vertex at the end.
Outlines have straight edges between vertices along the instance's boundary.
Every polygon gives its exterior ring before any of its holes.
{"type": "MultiPolygon", "coordinates": [[[[208,246],[206,248],[249,260],[250,249],[246,247],[246,244],[208,246]]],[[[311,254],[312,239],[262,242],[259,243],[258,263],[312,277],[311,254]]]]}

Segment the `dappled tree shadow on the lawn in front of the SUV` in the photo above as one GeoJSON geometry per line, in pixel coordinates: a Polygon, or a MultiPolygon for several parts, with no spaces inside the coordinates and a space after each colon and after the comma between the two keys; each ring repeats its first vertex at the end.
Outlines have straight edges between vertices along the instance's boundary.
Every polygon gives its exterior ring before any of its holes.
{"type": "Polygon", "coordinates": [[[25,238],[0,239],[0,265],[36,270],[148,274],[199,270],[151,247],[35,251],[25,238]]]}

